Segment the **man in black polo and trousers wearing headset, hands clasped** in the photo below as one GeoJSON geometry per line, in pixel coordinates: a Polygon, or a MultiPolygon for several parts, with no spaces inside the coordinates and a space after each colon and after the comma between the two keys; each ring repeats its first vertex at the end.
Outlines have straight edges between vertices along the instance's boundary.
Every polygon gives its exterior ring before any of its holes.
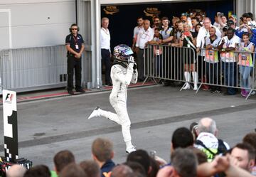
{"type": "Polygon", "coordinates": [[[79,28],[77,24],[72,24],[70,34],[65,38],[65,45],[68,50],[68,93],[74,95],[73,92],[73,75],[75,68],[75,91],[85,92],[81,87],[81,59],[82,52],[85,49],[82,36],[78,34],[79,28]]]}

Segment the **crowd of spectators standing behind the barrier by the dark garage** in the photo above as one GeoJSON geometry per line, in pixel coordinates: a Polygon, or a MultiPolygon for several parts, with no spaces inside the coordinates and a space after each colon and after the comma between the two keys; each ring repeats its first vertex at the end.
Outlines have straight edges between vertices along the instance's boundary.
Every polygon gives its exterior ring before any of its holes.
{"type": "Polygon", "coordinates": [[[166,16],[154,16],[152,21],[139,17],[138,26],[134,28],[132,48],[137,53],[139,80],[145,79],[142,58],[149,58],[148,53],[144,55],[144,49],[151,44],[154,45],[155,76],[165,78],[165,86],[181,80],[186,82],[182,89],[190,89],[192,75],[193,90],[198,90],[199,81],[206,83],[203,90],[213,93],[222,92],[220,85],[228,87],[225,95],[235,95],[241,88],[241,95],[247,97],[254,88],[255,55],[252,53],[256,44],[256,21],[253,14],[245,13],[238,18],[235,14],[225,16],[218,12],[211,21],[205,12],[192,10],[180,17],[174,16],[171,21],[166,16]],[[184,50],[178,53],[180,50],[166,49],[166,45],[184,50]],[[196,51],[196,56],[187,48],[196,51]]]}

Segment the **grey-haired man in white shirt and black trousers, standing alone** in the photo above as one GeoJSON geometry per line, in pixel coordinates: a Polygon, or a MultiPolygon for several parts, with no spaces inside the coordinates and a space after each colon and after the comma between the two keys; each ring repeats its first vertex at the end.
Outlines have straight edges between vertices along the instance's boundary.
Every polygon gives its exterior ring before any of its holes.
{"type": "Polygon", "coordinates": [[[105,85],[112,85],[110,82],[110,31],[108,29],[109,18],[102,18],[102,28],[100,29],[100,48],[102,63],[105,65],[105,85]]]}

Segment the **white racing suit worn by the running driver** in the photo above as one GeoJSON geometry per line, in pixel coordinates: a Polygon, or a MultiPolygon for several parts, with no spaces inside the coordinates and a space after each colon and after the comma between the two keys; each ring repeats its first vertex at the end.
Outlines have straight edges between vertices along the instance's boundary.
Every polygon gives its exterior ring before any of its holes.
{"type": "Polygon", "coordinates": [[[127,113],[127,87],[137,82],[138,72],[133,69],[134,63],[129,63],[127,68],[122,65],[113,65],[110,76],[112,78],[112,92],[110,94],[110,104],[115,113],[100,111],[100,116],[106,117],[122,126],[122,135],[127,148],[132,146],[132,137],[130,133],[131,121],[127,113]]]}

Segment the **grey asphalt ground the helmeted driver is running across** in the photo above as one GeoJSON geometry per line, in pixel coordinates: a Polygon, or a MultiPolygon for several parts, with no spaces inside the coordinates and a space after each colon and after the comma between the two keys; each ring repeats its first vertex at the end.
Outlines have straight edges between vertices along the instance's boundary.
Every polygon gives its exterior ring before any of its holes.
{"type": "MultiPolygon", "coordinates": [[[[201,117],[215,119],[219,137],[231,146],[255,130],[255,96],[244,100],[240,95],[178,90],[178,87],[161,85],[129,89],[127,108],[137,149],[156,150],[157,155],[169,161],[171,134],[201,117]]],[[[104,136],[114,142],[114,161],[124,162],[127,154],[121,127],[102,117],[87,120],[95,106],[114,111],[109,95],[110,92],[92,92],[18,103],[19,156],[53,169],[53,156],[58,151],[70,149],[78,162],[91,159],[92,141],[104,136]]],[[[0,124],[0,134],[4,134],[3,119],[0,124]]],[[[3,156],[4,136],[0,144],[3,156]]]]}

